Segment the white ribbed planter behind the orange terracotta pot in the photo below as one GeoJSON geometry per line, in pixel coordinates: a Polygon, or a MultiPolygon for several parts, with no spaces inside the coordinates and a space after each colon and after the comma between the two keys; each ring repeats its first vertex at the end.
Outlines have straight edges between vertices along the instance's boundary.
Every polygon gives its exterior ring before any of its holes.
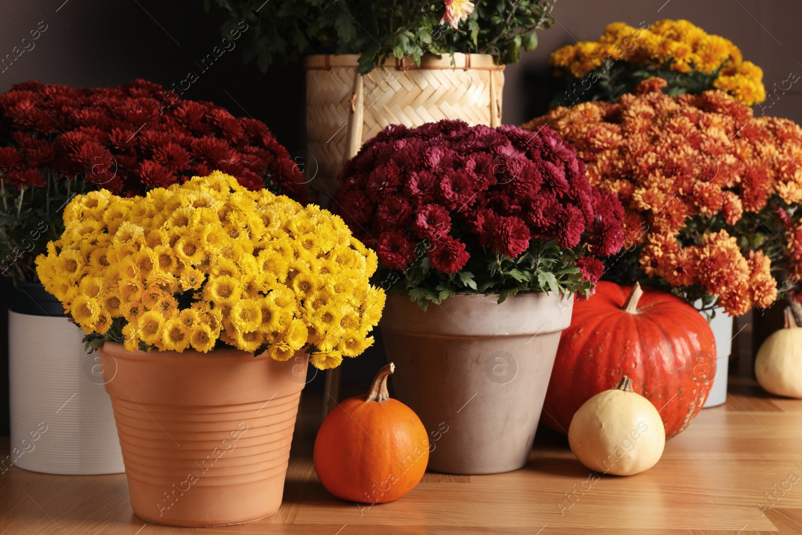
{"type": "Polygon", "coordinates": [[[125,472],[111,399],[97,353],[67,318],[9,310],[11,455],[19,468],[51,474],[125,472]]]}

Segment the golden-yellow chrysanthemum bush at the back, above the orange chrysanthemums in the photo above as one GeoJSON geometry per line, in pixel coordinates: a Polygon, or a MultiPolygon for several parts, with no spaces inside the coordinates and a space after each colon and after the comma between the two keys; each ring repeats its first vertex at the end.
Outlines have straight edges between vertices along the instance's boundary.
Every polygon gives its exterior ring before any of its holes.
{"type": "Polygon", "coordinates": [[[671,96],[720,89],[752,106],[766,99],[763,70],[743,61],[729,39],[707,34],[687,20],[663,19],[635,28],[614,22],[597,41],[580,41],[549,58],[555,74],[566,75],[553,106],[589,100],[614,102],[642,80],[659,76],[671,96]]]}

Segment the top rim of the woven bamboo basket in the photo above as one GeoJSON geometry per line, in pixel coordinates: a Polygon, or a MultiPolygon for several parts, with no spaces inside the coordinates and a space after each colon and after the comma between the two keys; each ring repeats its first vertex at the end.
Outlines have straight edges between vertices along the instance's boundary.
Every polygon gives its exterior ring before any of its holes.
{"type": "MultiPolygon", "coordinates": [[[[359,65],[358,54],[314,54],[305,56],[303,67],[306,71],[328,70],[331,67],[357,67],[359,65]]],[[[449,54],[424,54],[420,57],[420,66],[415,64],[411,56],[404,56],[403,59],[391,55],[383,66],[407,69],[478,69],[480,71],[504,71],[505,65],[498,65],[496,57],[491,54],[463,54],[454,53],[454,64],[449,54]]]]}

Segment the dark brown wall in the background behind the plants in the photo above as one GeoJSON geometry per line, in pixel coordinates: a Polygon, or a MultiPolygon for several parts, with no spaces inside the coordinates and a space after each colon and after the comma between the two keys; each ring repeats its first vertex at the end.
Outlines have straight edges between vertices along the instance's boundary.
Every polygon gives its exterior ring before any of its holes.
{"type": "MultiPolygon", "coordinates": [[[[537,50],[525,53],[519,65],[509,65],[505,71],[505,124],[520,124],[545,111],[557,87],[546,66],[552,51],[577,39],[597,39],[610,22],[640,26],[660,18],[687,18],[709,33],[731,39],[744,59],[763,67],[767,91],[788,79],[790,72],[802,73],[798,0],[559,0],[553,14],[557,22],[538,35],[537,50]]],[[[34,42],[33,50],[0,73],[0,91],[29,79],[102,87],[144,78],[169,87],[186,78],[188,71],[197,71],[200,79],[184,98],[210,100],[235,116],[263,120],[290,153],[302,152],[306,90],[298,64],[273,66],[262,74],[254,63],[242,63],[242,47],[237,43],[208,71],[201,73],[197,67],[195,62],[220,44],[222,17],[214,8],[205,14],[200,1],[5,0],[0,2],[0,57],[10,54],[40,21],[47,30],[34,42]]],[[[802,83],[780,95],[766,113],[802,122],[802,83]]],[[[2,301],[7,298],[2,295],[2,301]]],[[[0,355],[7,351],[6,307],[0,302],[0,355]]],[[[377,346],[381,346],[379,340],[377,346]]],[[[382,359],[378,349],[360,359],[347,359],[346,383],[371,377],[382,359]]],[[[6,359],[0,362],[2,435],[8,425],[7,378],[3,376],[8,370],[6,359]]],[[[318,373],[310,387],[319,387],[322,376],[318,373]]]]}

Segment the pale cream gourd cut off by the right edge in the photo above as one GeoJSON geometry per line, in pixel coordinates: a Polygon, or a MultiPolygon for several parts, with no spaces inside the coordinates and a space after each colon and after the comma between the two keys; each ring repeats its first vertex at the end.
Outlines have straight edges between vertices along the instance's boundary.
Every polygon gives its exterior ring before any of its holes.
{"type": "Polygon", "coordinates": [[[802,398],[802,327],[791,309],[785,309],[785,327],[772,333],[755,357],[755,376],[764,390],[802,398]]]}

